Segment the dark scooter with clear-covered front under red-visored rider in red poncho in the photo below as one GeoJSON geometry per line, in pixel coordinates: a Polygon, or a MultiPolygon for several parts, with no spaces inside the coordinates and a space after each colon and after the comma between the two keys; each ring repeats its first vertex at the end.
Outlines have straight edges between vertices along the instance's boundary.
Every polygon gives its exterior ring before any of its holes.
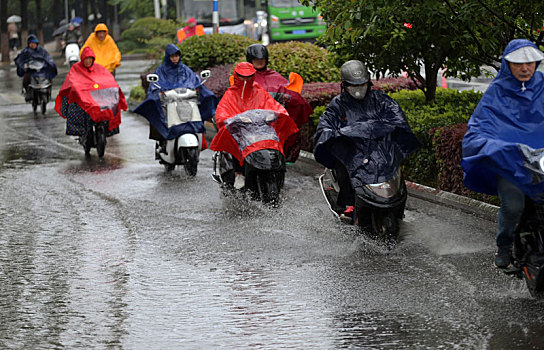
{"type": "MultiPolygon", "coordinates": [[[[225,122],[225,127],[242,149],[265,139],[273,139],[274,128],[270,125],[277,119],[274,111],[249,110],[225,122]]],[[[253,200],[277,207],[280,191],[285,181],[285,159],[276,149],[259,149],[247,154],[243,166],[227,152],[213,155],[212,180],[221,185],[223,193],[249,194],[253,200]],[[237,180],[242,175],[243,184],[237,180]]]]}

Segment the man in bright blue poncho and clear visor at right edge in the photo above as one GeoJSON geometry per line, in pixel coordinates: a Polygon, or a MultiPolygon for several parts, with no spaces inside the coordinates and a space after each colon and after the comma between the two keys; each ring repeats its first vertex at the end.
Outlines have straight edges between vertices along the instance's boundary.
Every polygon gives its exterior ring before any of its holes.
{"type": "Polygon", "coordinates": [[[510,265],[514,232],[525,206],[525,195],[544,192],[544,183],[523,170],[520,146],[544,147],[544,74],[536,71],[544,59],[525,39],[510,41],[501,69],[470,117],[463,139],[465,186],[499,195],[496,267],[510,265]]]}

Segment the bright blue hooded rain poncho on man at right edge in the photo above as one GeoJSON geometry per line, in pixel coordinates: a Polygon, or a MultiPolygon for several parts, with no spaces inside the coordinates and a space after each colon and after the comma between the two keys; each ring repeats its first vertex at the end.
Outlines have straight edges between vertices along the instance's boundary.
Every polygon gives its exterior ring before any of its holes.
{"type": "Polygon", "coordinates": [[[544,148],[544,74],[535,71],[531,80],[522,84],[504,59],[526,46],[536,48],[525,39],[512,40],[506,46],[499,74],[468,122],[461,166],[465,186],[473,191],[497,194],[499,175],[531,197],[544,192],[544,182],[535,181],[523,167],[526,146],[544,148]]]}

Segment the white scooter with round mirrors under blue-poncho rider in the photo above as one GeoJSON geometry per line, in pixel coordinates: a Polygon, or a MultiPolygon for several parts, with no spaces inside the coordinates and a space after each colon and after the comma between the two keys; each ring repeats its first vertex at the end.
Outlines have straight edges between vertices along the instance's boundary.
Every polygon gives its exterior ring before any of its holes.
{"type": "MultiPolygon", "coordinates": [[[[211,76],[209,70],[200,73],[202,84],[211,76]]],[[[159,89],[159,76],[148,74],[146,80],[159,89]]],[[[198,95],[196,90],[176,88],[160,93],[161,106],[166,116],[168,128],[188,122],[202,122],[198,109],[198,95]]],[[[184,133],[164,142],[155,144],[155,158],[163,164],[166,170],[172,171],[176,165],[183,165],[185,173],[196,176],[200,150],[202,149],[202,137],[200,133],[184,133]]]]}

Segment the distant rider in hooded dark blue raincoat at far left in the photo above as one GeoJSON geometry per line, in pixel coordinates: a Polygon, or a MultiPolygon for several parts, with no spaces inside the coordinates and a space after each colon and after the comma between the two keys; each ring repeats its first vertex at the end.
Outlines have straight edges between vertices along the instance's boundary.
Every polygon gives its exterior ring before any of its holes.
{"type": "Polygon", "coordinates": [[[15,57],[15,65],[17,66],[17,75],[23,77],[23,93],[25,100],[30,101],[32,96],[28,89],[30,78],[33,74],[40,74],[48,79],[53,79],[57,76],[57,65],[49,53],[41,46],[36,35],[30,34],[26,40],[27,47],[15,57]],[[32,60],[39,59],[45,63],[45,66],[40,72],[36,72],[28,67],[32,60]]]}

